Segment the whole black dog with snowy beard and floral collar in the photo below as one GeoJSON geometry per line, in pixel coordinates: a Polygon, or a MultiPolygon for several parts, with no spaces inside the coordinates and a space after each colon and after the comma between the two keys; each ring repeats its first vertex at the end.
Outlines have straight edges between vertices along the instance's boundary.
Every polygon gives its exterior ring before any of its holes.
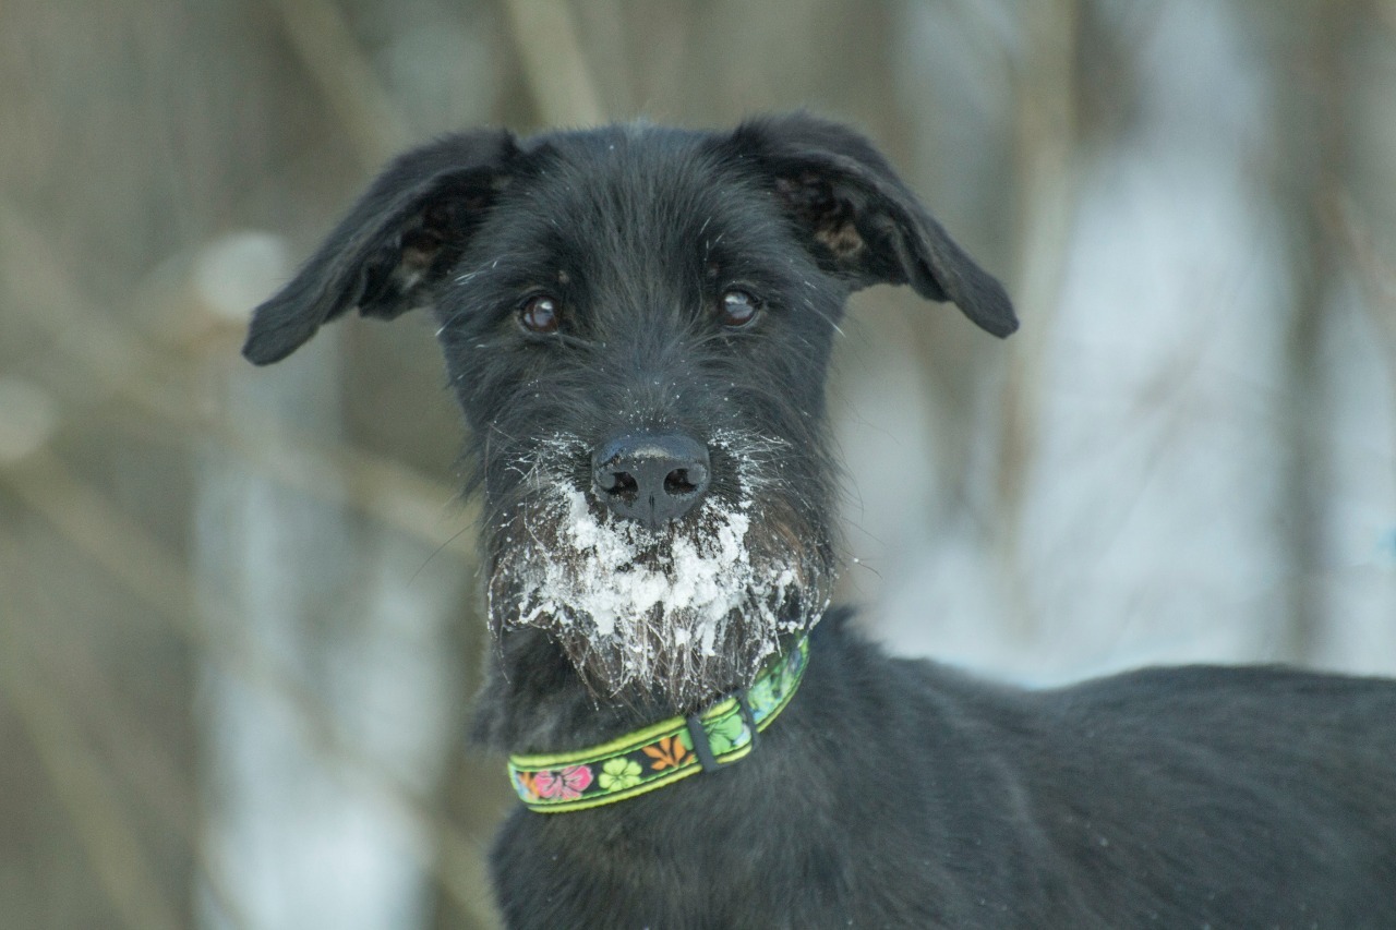
{"type": "Polygon", "coordinates": [[[493,856],[510,926],[1396,927],[1396,683],[1022,693],[826,612],[825,370],[878,282],[1016,327],[867,141],[792,116],[444,138],[258,307],[258,364],[437,314],[486,508],[477,737],[535,809],[493,856]]]}

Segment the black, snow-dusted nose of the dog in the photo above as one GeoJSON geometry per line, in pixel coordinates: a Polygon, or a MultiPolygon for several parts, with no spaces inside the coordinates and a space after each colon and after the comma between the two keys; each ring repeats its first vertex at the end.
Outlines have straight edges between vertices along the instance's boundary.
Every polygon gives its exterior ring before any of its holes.
{"type": "Polygon", "coordinates": [[[681,433],[620,436],[592,455],[592,476],[611,512],[659,529],[708,493],[708,447],[681,433]]]}

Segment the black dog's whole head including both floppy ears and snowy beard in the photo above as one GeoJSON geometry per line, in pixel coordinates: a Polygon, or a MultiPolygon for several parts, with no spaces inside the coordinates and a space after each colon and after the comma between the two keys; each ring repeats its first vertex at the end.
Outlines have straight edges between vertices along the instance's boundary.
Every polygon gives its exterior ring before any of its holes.
{"type": "Polygon", "coordinates": [[[275,362],[431,307],[484,496],[491,626],[599,694],[688,709],[811,626],[835,573],[824,378],[849,292],[1016,321],[856,134],[811,117],[443,140],[395,162],[253,321],[275,362]]]}

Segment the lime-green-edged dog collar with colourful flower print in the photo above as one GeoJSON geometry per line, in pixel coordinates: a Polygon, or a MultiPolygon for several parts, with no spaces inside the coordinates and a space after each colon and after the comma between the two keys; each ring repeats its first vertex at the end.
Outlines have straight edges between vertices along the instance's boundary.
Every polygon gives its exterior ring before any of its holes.
{"type": "Polygon", "coordinates": [[[540,813],[585,810],[713,772],[747,755],[800,687],[810,638],[766,667],[750,688],[702,714],[673,716],[609,743],[556,755],[511,755],[510,781],[540,813]]]}

